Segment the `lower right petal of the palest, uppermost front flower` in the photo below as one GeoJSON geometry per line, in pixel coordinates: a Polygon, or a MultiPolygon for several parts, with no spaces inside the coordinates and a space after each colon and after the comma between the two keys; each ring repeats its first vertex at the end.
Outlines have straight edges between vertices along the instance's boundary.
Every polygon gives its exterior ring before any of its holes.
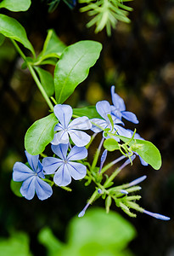
{"type": "Polygon", "coordinates": [[[77,147],[86,146],[91,140],[91,137],[84,131],[70,130],[69,135],[77,147]]]}

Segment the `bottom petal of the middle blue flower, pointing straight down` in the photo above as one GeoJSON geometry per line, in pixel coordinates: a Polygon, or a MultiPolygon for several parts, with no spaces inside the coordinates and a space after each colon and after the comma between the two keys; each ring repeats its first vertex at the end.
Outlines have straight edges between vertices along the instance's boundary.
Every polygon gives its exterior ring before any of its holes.
{"type": "Polygon", "coordinates": [[[53,176],[53,181],[60,187],[65,187],[70,184],[71,177],[67,164],[59,167],[58,171],[53,176]]]}

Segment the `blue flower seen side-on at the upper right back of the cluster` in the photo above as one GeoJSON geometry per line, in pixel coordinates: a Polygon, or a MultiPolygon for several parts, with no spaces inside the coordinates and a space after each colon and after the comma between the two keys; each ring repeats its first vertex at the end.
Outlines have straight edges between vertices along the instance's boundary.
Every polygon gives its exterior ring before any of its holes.
{"type": "Polygon", "coordinates": [[[114,85],[111,86],[111,96],[114,104],[114,106],[111,106],[111,113],[114,114],[118,119],[123,117],[134,124],[138,124],[139,122],[137,116],[132,112],[126,111],[125,103],[121,96],[118,96],[118,94],[115,93],[114,85]]]}

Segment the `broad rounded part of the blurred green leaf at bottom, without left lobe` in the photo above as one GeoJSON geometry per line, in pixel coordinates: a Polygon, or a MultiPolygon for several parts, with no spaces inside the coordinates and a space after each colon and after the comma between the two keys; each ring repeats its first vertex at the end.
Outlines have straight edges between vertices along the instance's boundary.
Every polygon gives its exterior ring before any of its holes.
{"type": "Polygon", "coordinates": [[[104,209],[95,208],[87,210],[83,218],[71,221],[69,244],[71,247],[81,248],[80,255],[100,255],[99,252],[108,255],[112,251],[119,253],[135,235],[132,224],[121,215],[112,211],[106,214],[104,209]],[[93,249],[98,253],[94,253],[93,249]]]}

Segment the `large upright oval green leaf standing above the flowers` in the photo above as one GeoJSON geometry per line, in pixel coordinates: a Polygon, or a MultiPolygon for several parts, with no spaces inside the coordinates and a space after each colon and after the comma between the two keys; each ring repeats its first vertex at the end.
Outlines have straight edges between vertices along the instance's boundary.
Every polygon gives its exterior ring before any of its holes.
{"type": "Polygon", "coordinates": [[[76,86],[87,78],[89,68],[98,60],[102,44],[94,41],[80,41],[65,49],[55,67],[55,97],[63,103],[76,86]]]}

